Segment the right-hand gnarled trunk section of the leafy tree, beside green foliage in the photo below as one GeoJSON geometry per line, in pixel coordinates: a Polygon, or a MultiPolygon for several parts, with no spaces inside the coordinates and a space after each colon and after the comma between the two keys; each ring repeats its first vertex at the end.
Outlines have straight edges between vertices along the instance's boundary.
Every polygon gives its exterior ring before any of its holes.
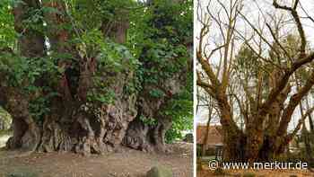
{"type": "Polygon", "coordinates": [[[162,115],[161,110],[163,106],[170,102],[172,94],[179,93],[179,90],[182,89],[180,87],[184,85],[187,78],[181,75],[183,73],[160,85],[162,89],[169,93],[164,99],[150,98],[148,96],[149,91],[153,87],[151,85],[144,87],[144,92],[138,96],[138,117],[130,124],[126,132],[124,141],[126,146],[145,151],[165,151],[165,133],[171,127],[171,119],[169,116],[162,115]],[[154,125],[144,124],[140,120],[140,116],[157,118],[157,122],[154,125]]]}

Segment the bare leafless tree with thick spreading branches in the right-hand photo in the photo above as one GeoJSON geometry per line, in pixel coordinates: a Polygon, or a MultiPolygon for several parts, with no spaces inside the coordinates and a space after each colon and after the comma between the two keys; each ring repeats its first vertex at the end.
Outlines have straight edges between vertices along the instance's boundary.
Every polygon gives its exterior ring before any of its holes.
{"type": "Polygon", "coordinates": [[[290,14],[298,31],[300,42],[294,43],[297,48],[292,48],[293,51],[288,48],[289,42],[279,38],[281,28],[288,27],[283,25],[283,19],[276,18],[275,13],[266,18],[256,2],[260,18],[254,24],[243,14],[248,5],[245,2],[214,2],[210,1],[207,8],[198,3],[201,29],[196,58],[198,72],[205,76],[198,75],[197,85],[214,98],[219,108],[224,160],[274,160],[283,154],[312,111],[307,110],[298,125],[288,132],[293,112],[314,84],[310,69],[314,53],[307,49],[308,41],[298,13],[300,1],[293,2],[292,6],[273,1],[274,11],[290,14]],[[218,5],[218,12],[213,13],[211,5],[218,5]],[[252,35],[237,26],[240,22],[248,24],[252,35]],[[270,22],[275,24],[275,30],[270,22]],[[222,40],[214,44],[210,43],[217,35],[213,29],[218,29],[222,36],[222,40]],[[241,48],[237,46],[239,43],[241,48]],[[269,55],[266,49],[269,49],[269,55]],[[299,89],[295,89],[297,83],[293,78],[301,70],[306,71],[307,76],[299,89]],[[236,117],[244,119],[244,129],[239,127],[236,117]]]}

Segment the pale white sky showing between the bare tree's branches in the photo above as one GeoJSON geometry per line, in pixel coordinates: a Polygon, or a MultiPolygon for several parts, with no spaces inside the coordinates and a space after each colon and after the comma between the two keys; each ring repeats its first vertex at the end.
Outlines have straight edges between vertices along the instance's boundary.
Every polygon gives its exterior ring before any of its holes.
{"type": "MultiPolygon", "coordinates": [[[[197,1],[197,0],[196,0],[197,1]]],[[[208,4],[209,0],[199,0],[200,4],[203,7],[206,7],[206,5],[208,4]]],[[[217,0],[212,0],[211,5],[209,6],[209,10],[216,14],[217,12],[217,7],[218,5],[215,4],[215,2],[217,2],[217,0]]],[[[223,4],[228,4],[228,2],[231,2],[231,0],[221,0],[221,2],[223,4]]],[[[263,14],[266,16],[267,21],[270,20],[271,16],[268,15],[268,13],[274,13],[274,12],[278,12],[278,10],[275,10],[275,7],[272,5],[273,0],[244,0],[244,7],[243,7],[243,14],[249,19],[249,22],[253,23],[253,24],[257,24],[258,22],[258,14],[260,14],[259,9],[261,9],[261,12],[263,12],[263,14]]],[[[301,7],[311,16],[314,18],[314,2],[313,0],[300,0],[301,5],[299,5],[298,7],[298,12],[300,14],[301,17],[305,16],[305,13],[303,12],[303,10],[301,9],[301,7]]],[[[195,3],[197,4],[197,2],[195,3]]],[[[290,6],[290,4],[292,4],[292,0],[285,0],[285,1],[278,1],[278,4],[286,4],[288,6],[290,6]]],[[[196,8],[195,8],[196,9],[196,8]]],[[[275,14],[279,14],[279,13],[283,13],[283,11],[280,11],[278,13],[275,14]]],[[[293,24],[293,22],[291,22],[292,20],[292,16],[290,14],[285,14],[286,15],[286,20],[287,20],[287,25],[286,28],[284,29],[289,29],[289,31],[294,31],[297,32],[295,25],[293,24]]],[[[259,18],[261,18],[262,14],[260,14],[259,18]]],[[[222,15],[223,18],[223,15],[222,15]]],[[[301,18],[301,22],[303,24],[303,28],[307,37],[307,40],[310,43],[310,48],[314,49],[314,22],[311,22],[309,19],[305,19],[305,18],[301,18]]],[[[197,37],[199,35],[199,31],[201,28],[201,24],[200,22],[195,23],[195,36],[197,37]]],[[[239,31],[251,31],[251,28],[249,27],[249,25],[247,24],[247,22],[238,22],[238,25],[236,27],[239,31]]],[[[214,26],[213,28],[210,29],[211,33],[213,34],[211,36],[211,38],[209,40],[211,40],[210,45],[213,45],[213,42],[216,40],[220,40],[220,33],[218,30],[217,26],[214,26]]],[[[284,31],[285,33],[287,31],[284,31]]],[[[270,35],[270,33],[268,35],[266,35],[267,40],[272,41],[272,37],[270,35]],[[267,38],[268,37],[268,38],[267,38]]],[[[196,40],[197,41],[197,40],[196,40]]],[[[197,46],[197,45],[196,45],[197,46]]],[[[213,45],[214,46],[214,45],[213,45]]],[[[215,56],[213,57],[215,58],[215,56]]],[[[212,61],[214,64],[218,63],[218,59],[213,59],[212,61]]],[[[311,99],[312,104],[314,103],[314,99],[311,99]]],[[[298,119],[300,119],[300,110],[296,109],[294,111],[294,115],[293,115],[293,119],[290,123],[289,129],[292,129],[295,127],[295,125],[298,123],[298,119]]],[[[206,120],[208,118],[208,111],[206,107],[200,107],[198,109],[198,111],[196,112],[196,124],[198,123],[205,123],[206,120]]],[[[214,122],[212,122],[214,124],[219,124],[219,120],[214,119],[214,122]]]]}

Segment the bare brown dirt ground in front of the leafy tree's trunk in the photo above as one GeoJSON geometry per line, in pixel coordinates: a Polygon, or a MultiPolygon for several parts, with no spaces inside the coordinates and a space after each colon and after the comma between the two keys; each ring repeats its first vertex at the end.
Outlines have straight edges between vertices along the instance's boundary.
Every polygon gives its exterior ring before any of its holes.
{"type": "Polygon", "coordinates": [[[155,165],[170,167],[175,177],[193,176],[193,144],[175,143],[168,148],[170,153],[165,155],[123,148],[120,153],[90,157],[72,153],[16,157],[17,152],[0,150],[0,177],[30,171],[38,177],[144,177],[155,165]]]}

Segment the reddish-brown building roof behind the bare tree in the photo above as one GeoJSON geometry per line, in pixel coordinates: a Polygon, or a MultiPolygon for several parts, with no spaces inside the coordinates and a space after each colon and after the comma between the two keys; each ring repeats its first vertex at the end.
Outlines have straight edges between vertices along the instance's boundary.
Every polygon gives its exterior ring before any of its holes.
{"type": "MultiPolygon", "coordinates": [[[[203,145],[205,140],[207,126],[197,125],[196,143],[203,145]]],[[[222,126],[210,126],[208,129],[208,138],[206,146],[222,146],[222,126]]]]}

